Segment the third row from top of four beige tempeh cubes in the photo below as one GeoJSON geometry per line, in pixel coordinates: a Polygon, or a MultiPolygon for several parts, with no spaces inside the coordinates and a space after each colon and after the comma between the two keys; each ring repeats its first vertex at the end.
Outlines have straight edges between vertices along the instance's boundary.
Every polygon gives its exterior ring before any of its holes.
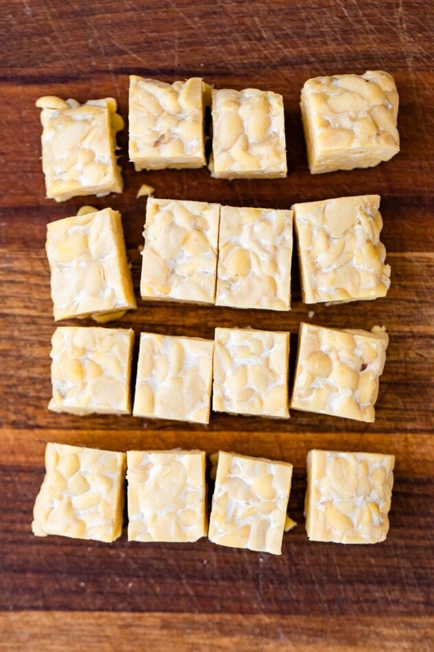
{"type": "MultiPolygon", "coordinates": [[[[58,327],[51,344],[49,409],[131,412],[134,332],[58,327]]],[[[374,421],[385,364],[383,334],[302,323],[290,407],[374,421]]],[[[216,328],[215,340],[142,333],[136,417],[208,423],[213,410],[289,417],[289,333],[216,328]]]]}

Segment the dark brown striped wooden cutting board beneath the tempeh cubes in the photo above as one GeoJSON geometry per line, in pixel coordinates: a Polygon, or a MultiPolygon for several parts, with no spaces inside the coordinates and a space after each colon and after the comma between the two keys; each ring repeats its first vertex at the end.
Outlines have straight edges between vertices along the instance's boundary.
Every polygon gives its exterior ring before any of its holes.
{"type": "MultiPolygon", "coordinates": [[[[434,11],[425,1],[0,1],[0,648],[397,649],[434,647],[434,11]],[[298,96],[326,73],[385,69],[400,93],[401,152],[371,170],[311,176],[298,96]],[[285,101],[289,176],[216,181],[206,170],[136,173],[121,135],[125,192],[56,204],[40,170],[40,95],[112,95],[128,113],[128,75],[203,75],[285,101]],[[373,424],[293,412],[290,421],[213,415],[208,428],[133,417],[54,415],[54,329],[45,225],[84,203],[123,214],[138,294],[145,200],[156,196],[286,208],[348,194],[382,196],[392,269],[386,299],[317,306],[312,323],[390,334],[373,424]],[[30,532],[47,441],[112,450],[219,448],[294,465],[297,528],[282,557],[213,546],[37,539],[30,532]],[[309,543],[302,505],[311,447],[396,455],[387,542],[309,543]]],[[[289,314],[139,303],[119,325],[212,338],[219,326],[291,331],[300,321],[296,264],[289,314]]],[[[73,322],[71,322],[73,323],[73,322]]]]}

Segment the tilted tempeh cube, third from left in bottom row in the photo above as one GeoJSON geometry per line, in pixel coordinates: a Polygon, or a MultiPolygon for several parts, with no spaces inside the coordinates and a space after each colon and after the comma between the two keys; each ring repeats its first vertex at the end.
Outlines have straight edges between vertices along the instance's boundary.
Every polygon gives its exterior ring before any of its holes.
{"type": "Polygon", "coordinates": [[[219,452],[210,541],[281,555],[291,476],[287,462],[219,452]]]}

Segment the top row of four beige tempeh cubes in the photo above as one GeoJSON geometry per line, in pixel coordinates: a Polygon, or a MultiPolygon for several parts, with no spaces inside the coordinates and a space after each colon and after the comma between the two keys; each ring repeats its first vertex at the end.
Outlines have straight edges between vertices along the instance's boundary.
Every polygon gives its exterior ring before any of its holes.
{"type": "MultiPolygon", "coordinates": [[[[204,117],[211,104],[217,178],[287,175],[283,98],[257,89],[211,89],[200,78],[167,84],[130,77],[130,161],[136,170],[206,165],[204,117]]],[[[121,192],[115,155],[123,129],[112,98],[80,105],[40,97],[43,170],[47,196],[121,192]]],[[[302,121],[312,173],[352,170],[388,161],[399,151],[398,93],[383,71],[308,80],[302,89],[302,121]]]]}

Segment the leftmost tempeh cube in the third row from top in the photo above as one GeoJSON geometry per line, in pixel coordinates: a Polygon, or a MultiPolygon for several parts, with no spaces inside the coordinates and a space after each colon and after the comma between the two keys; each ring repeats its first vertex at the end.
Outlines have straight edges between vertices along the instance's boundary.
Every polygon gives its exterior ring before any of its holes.
{"type": "Polygon", "coordinates": [[[100,326],[60,326],[51,338],[48,409],[90,415],[131,413],[134,331],[100,326]]]}

